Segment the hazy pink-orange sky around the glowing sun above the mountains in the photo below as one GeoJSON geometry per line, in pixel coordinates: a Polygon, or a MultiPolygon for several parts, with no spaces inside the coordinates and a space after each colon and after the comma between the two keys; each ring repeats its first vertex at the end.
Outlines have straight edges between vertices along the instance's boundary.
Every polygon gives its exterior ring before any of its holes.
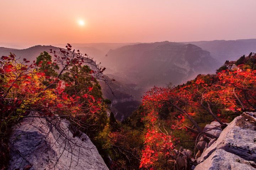
{"type": "Polygon", "coordinates": [[[256,38],[255,8],[256,0],[0,0],[0,42],[256,38]]]}

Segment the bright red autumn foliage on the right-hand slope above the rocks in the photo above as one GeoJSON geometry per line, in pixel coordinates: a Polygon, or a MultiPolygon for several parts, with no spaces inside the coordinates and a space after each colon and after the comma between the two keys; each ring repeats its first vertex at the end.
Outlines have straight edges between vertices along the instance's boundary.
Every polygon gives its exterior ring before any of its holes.
{"type": "Polygon", "coordinates": [[[146,120],[148,130],[139,168],[157,169],[155,164],[158,159],[165,157],[175,160],[176,153],[173,150],[175,143],[179,141],[171,134],[174,130],[187,131],[186,119],[190,120],[198,131],[202,131],[192,117],[202,111],[211,114],[223,125],[222,121],[229,116],[222,115],[222,111],[241,113],[255,110],[256,70],[224,70],[217,75],[198,76],[196,80],[181,87],[154,87],[143,97],[142,105],[145,115],[143,121],[146,120]],[[172,120],[169,131],[161,127],[158,121],[159,111],[164,107],[169,108],[168,119],[172,120]]]}

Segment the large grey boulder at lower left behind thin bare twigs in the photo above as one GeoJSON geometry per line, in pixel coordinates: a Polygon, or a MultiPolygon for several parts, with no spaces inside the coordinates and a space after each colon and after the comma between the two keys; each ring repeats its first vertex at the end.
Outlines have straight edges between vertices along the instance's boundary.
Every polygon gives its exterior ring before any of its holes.
{"type": "Polygon", "coordinates": [[[10,170],[108,170],[90,139],[59,117],[23,119],[13,129],[10,149],[10,170]]]}

